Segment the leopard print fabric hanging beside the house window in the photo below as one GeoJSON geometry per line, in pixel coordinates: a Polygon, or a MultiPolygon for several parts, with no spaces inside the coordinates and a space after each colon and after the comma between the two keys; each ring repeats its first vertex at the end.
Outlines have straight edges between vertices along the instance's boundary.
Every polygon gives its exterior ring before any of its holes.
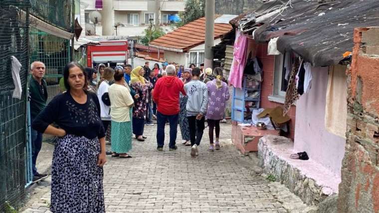
{"type": "Polygon", "coordinates": [[[296,75],[299,71],[300,59],[295,59],[294,64],[292,65],[292,71],[290,78],[288,79],[288,87],[286,92],[286,100],[283,106],[283,116],[287,114],[291,106],[295,104],[296,100],[299,99],[299,93],[296,88],[296,75]]]}

